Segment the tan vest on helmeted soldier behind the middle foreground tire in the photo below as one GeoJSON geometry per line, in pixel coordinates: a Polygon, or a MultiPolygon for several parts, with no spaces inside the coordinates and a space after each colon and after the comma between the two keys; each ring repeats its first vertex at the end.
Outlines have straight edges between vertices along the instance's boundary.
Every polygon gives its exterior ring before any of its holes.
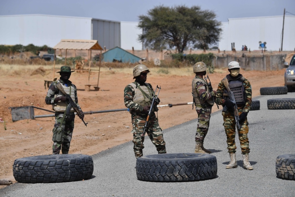
{"type": "Polygon", "coordinates": [[[134,83],[131,83],[129,85],[131,85],[134,89],[134,96],[132,99],[133,102],[142,105],[143,107],[151,104],[151,99],[144,95],[138,88],[138,86],[140,86],[143,92],[145,92],[150,97],[153,97],[152,90],[150,89],[150,85],[148,83],[145,83],[145,85],[140,85],[139,83],[137,83],[136,85],[134,83]]]}

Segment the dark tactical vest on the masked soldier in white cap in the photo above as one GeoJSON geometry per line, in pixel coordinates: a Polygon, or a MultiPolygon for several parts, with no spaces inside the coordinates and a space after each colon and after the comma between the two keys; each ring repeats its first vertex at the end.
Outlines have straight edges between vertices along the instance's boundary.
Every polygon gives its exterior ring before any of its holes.
{"type": "MultiPolygon", "coordinates": [[[[237,105],[245,105],[246,103],[246,94],[245,94],[245,87],[243,85],[243,82],[245,79],[241,78],[237,81],[229,81],[228,86],[232,93],[234,94],[235,101],[237,105]]],[[[227,90],[224,91],[225,94],[227,94],[227,90]]],[[[226,99],[226,96],[224,96],[224,99],[226,99]]]]}

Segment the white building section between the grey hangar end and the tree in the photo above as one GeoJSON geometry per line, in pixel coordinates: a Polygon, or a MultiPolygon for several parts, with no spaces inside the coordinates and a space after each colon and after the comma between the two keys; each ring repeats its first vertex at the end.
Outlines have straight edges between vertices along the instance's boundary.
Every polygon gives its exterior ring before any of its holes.
{"type": "Polygon", "coordinates": [[[142,43],[138,41],[138,35],[142,34],[142,29],[137,27],[138,23],[121,21],[121,48],[143,50],[142,43]]]}

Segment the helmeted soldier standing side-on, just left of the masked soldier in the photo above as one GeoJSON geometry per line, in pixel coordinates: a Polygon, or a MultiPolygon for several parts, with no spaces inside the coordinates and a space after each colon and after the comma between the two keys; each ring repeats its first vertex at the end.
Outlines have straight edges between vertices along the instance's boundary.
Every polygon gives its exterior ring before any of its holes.
{"type": "Polygon", "coordinates": [[[196,131],[195,141],[196,149],[195,153],[211,153],[211,151],[204,148],[204,139],[207,135],[212,105],[214,105],[214,96],[216,91],[209,92],[207,82],[203,79],[206,75],[207,66],[204,62],[197,62],[193,67],[196,74],[192,82],[192,95],[196,111],[198,114],[198,127],[196,131]]]}

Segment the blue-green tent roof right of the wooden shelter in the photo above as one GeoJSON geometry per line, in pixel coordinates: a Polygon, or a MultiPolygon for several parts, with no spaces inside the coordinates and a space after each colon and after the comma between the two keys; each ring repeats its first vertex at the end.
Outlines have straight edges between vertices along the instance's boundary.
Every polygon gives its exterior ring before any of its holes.
{"type": "Polygon", "coordinates": [[[118,46],[102,53],[102,57],[102,60],[106,62],[121,61],[135,63],[141,60],[140,57],[137,57],[118,46]]]}

